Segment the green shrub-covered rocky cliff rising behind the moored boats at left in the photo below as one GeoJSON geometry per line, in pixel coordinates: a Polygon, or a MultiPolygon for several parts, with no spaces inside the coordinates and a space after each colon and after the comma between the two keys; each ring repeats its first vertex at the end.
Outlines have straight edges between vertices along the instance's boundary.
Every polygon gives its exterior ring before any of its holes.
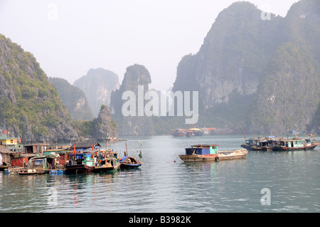
{"type": "Polygon", "coordinates": [[[70,142],[79,134],[36,58],[0,35],[0,130],[28,142],[70,142]]]}

